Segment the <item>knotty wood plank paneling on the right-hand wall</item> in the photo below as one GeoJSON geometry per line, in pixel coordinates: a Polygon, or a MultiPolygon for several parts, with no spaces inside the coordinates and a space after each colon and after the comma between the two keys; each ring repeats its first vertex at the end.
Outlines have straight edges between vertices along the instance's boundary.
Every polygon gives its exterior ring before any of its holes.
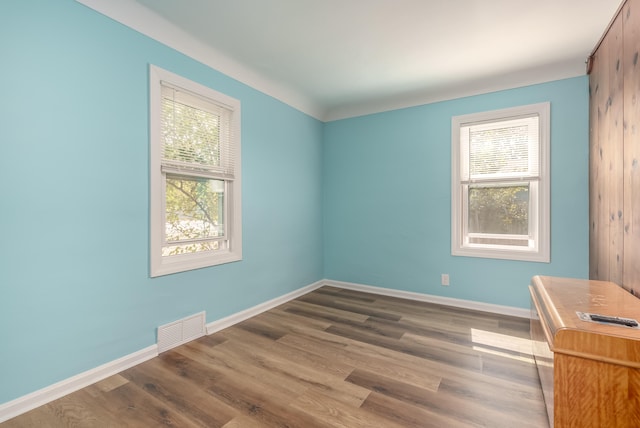
{"type": "Polygon", "coordinates": [[[589,277],[640,293],[640,0],[589,57],[589,277]]]}

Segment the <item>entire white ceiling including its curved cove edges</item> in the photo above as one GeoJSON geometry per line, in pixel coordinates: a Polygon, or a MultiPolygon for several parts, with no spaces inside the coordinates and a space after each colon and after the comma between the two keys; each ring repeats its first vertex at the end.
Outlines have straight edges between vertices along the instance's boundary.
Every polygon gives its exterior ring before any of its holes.
{"type": "Polygon", "coordinates": [[[78,0],[321,120],[585,74],[621,0],[78,0]]]}

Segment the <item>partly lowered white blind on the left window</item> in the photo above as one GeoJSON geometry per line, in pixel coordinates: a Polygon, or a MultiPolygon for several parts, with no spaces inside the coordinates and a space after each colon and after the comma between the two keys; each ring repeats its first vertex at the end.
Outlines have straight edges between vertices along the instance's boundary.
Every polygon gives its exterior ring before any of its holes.
{"type": "Polygon", "coordinates": [[[162,171],[233,180],[233,110],[161,84],[162,171]]]}

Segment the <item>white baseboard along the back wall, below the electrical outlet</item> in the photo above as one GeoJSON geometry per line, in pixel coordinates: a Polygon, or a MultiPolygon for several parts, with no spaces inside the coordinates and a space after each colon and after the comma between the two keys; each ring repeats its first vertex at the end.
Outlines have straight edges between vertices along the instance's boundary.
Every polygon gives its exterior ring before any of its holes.
{"type": "Polygon", "coordinates": [[[494,305],[490,303],[475,302],[473,300],[455,299],[453,297],[434,296],[432,294],[415,293],[412,291],[395,290],[392,288],[376,287],[373,285],[355,284],[342,281],[323,281],[325,285],[344,288],[347,290],[364,291],[366,293],[380,294],[383,296],[398,297],[401,299],[417,300],[420,302],[436,303],[439,305],[453,306],[456,308],[472,309],[475,311],[489,312],[494,314],[509,315],[518,318],[531,318],[531,311],[528,309],[516,308],[512,306],[494,305]]]}

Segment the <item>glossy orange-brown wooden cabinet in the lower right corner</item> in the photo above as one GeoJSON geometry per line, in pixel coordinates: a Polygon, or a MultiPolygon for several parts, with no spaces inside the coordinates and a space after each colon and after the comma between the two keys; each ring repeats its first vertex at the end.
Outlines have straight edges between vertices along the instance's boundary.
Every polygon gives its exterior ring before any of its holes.
{"type": "Polygon", "coordinates": [[[536,276],[531,337],[550,425],[640,427],[640,328],[577,312],[640,320],[640,299],[608,281],[536,276]]]}

